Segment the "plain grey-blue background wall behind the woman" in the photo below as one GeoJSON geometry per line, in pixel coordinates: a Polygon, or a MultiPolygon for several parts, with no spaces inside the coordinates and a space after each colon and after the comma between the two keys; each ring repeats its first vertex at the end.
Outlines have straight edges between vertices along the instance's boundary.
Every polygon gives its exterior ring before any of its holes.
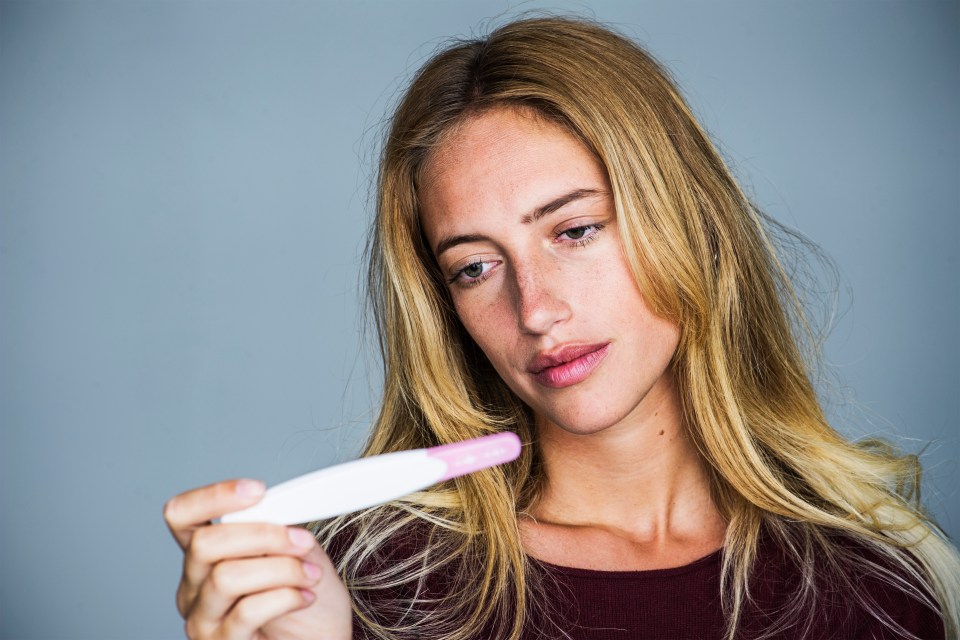
{"type": "Polygon", "coordinates": [[[0,636],[173,638],[170,495],[351,457],[381,117],[450,35],[592,12],[842,277],[848,433],[960,533],[955,2],[3,2],[0,636]]]}

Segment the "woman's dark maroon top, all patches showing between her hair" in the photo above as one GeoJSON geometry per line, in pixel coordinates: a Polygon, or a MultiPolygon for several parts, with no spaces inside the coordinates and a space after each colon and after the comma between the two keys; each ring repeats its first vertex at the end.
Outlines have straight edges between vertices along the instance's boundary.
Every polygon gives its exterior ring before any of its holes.
{"type": "MultiPolygon", "coordinates": [[[[416,539],[417,536],[414,536],[416,539]]],[[[337,542],[343,542],[339,540],[337,542]]],[[[397,561],[407,556],[411,539],[401,541],[390,550],[381,550],[375,563],[397,561]],[[406,549],[406,551],[400,551],[406,549]]],[[[336,559],[338,550],[334,544],[329,549],[336,559]]],[[[860,547],[857,547],[860,548],[860,547]]],[[[863,563],[847,571],[858,595],[875,603],[875,608],[884,612],[896,624],[921,640],[944,638],[940,615],[924,605],[918,596],[893,589],[876,576],[871,564],[880,563],[876,554],[860,551],[863,563]],[[852,575],[851,575],[852,571],[852,575]]],[[[651,640],[690,639],[720,640],[723,637],[725,619],[720,606],[720,564],[722,550],[716,551],[688,565],[672,569],[651,571],[594,571],[558,567],[539,560],[533,564],[541,570],[543,591],[548,600],[549,613],[538,613],[543,607],[534,607],[524,627],[524,640],[545,638],[569,638],[569,640],[627,640],[643,638],[651,640]],[[566,634],[564,636],[564,634],[566,634]]],[[[449,565],[448,565],[449,566],[449,565]]],[[[818,567],[816,615],[806,633],[807,611],[797,603],[797,587],[801,573],[795,563],[778,547],[762,543],[758,548],[753,577],[750,580],[750,601],[742,611],[738,627],[738,640],[759,638],[764,632],[773,631],[768,638],[805,640],[893,640],[909,636],[897,634],[856,605],[848,592],[837,588],[837,582],[822,580],[825,572],[818,567]],[[832,588],[831,588],[832,587],[832,588]],[[787,619],[782,616],[787,614],[787,619]],[[790,617],[792,616],[794,617],[790,617]],[[785,627],[771,629],[777,621],[785,627]]],[[[438,570],[421,585],[419,598],[436,602],[450,592],[457,582],[450,569],[438,570]]],[[[406,611],[406,622],[411,614],[430,615],[429,606],[414,604],[412,585],[390,589],[363,589],[354,597],[364,598],[373,615],[391,610],[388,603],[406,611]]],[[[542,604],[542,603],[541,603],[542,604]]],[[[395,609],[394,609],[395,610],[395,609]]],[[[389,617],[389,616],[386,616],[389,617]]],[[[366,637],[362,625],[355,621],[356,637],[366,637]]],[[[497,634],[479,631],[478,639],[496,638],[497,634]]]]}

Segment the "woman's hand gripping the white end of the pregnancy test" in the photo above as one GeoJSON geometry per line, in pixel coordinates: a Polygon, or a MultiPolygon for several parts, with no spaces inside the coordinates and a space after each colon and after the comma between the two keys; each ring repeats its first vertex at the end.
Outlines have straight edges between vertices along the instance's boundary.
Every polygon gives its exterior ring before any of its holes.
{"type": "Polygon", "coordinates": [[[306,529],[211,524],[249,507],[263,484],[234,480],[175,496],[167,526],[184,551],[177,608],[191,640],[349,640],[350,596],[306,529]]]}

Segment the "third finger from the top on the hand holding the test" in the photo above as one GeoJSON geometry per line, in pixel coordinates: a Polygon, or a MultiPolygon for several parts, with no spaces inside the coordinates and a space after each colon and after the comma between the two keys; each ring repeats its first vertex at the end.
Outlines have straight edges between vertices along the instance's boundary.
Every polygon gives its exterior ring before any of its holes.
{"type": "Polygon", "coordinates": [[[221,562],[204,582],[193,613],[199,618],[218,620],[225,617],[231,607],[236,608],[235,603],[239,607],[248,600],[251,597],[248,594],[281,587],[309,590],[320,581],[321,574],[316,564],[289,556],[221,562]]]}

